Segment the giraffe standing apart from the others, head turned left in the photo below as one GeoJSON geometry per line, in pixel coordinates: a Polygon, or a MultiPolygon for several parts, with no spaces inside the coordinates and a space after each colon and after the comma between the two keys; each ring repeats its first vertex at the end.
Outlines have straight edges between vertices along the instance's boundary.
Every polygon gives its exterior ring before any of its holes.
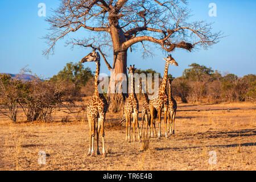
{"type": "Polygon", "coordinates": [[[96,72],[94,77],[94,94],[91,100],[88,103],[87,107],[87,118],[89,123],[89,130],[90,130],[90,146],[88,155],[94,156],[94,137],[95,137],[95,128],[96,128],[96,135],[97,135],[97,154],[100,154],[98,150],[98,135],[102,134],[102,154],[106,157],[106,150],[105,150],[105,142],[104,142],[104,122],[105,122],[105,115],[106,111],[108,110],[108,103],[102,93],[98,92],[98,74],[100,73],[100,55],[94,49],[93,52],[89,53],[89,55],[85,56],[81,63],[84,62],[96,62],[96,72]],[[98,121],[97,127],[96,121],[98,121]]]}

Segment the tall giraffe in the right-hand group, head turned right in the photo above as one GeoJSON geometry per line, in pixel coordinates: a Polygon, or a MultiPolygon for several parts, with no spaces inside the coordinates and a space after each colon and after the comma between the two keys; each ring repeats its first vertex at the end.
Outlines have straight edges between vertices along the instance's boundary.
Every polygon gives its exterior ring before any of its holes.
{"type": "MultiPolygon", "coordinates": [[[[164,125],[166,130],[166,137],[167,135],[167,122],[166,122],[166,115],[167,115],[167,93],[166,93],[166,82],[167,82],[167,76],[168,76],[168,67],[170,64],[178,65],[177,62],[174,60],[174,58],[171,55],[168,55],[167,58],[163,58],[166,61],[166,65],[164,67],[164,76],[163,81],[161,85],[159,86],[158,91],[155,93],[155,96],[152,100],[150,100],[150,115],[151,115],[151,126],[153,125],[153,115],[154,115],[154,109],[158,112],[158,138],[161,137],[161,131],[160,131],[160,125],[161,125],[161,114],[162,114],[162,108],[164,106],[164,125]],[[164,104],[165,103],[165,104],[164,104]]],[[[153,135],[153,127],[151,127],[151,137],[154,137],[153,135]]]]}

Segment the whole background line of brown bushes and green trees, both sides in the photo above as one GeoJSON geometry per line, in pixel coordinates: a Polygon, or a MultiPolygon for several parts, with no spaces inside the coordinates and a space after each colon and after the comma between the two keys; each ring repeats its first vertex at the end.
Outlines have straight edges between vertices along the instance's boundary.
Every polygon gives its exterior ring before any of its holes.
{"type": "MultiPolygon", "coordinates": [[[[193,63],[189,67],[181,77],[172,81],[173,96],[179,97],[182,102],[201,102],[205,99],[215,103],[255,102],[256,75],[222,76],[220,72],[204,65],[193,63]]],[[[138,69],[137,73],[152,73],[154,76],[156,72],[152,69],[138,69]]],[[[0,74],[0,113],[16,122],[20,107],[27,121],[51,121],[51,114],[56,107],[70,109],[76,101],[81,101],[84,94],[89,93],[82,93],[81,88],[90,88],[92,85],[85,85],[92,77],[92,71],[84,68],[81,63],[68,63],[48,80],[34,76],[30,81],[23,81],[0,74]]],[[[89,84],[93,84],[93,81],[89,84]]]]}

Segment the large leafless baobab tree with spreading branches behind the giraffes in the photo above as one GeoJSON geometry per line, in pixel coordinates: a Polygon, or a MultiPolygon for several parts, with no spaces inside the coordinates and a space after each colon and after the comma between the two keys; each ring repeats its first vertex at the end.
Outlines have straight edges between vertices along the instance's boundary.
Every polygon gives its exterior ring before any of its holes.
{"type": "MultiPolygon", "coordinates": [[[[141,47],[144,55],[150,55],[152,46],[172,52],[176,48],[207,49],[217,43],[222,33],[213,32],[211,24],[204,21],[188,22],[191,11],[187,7],[186,0],[61,0],[47,18],[49,47],[43,53],[54,53],[59,39],[85,30],[85,38],[71,38],[67,44],[98,49],[108,68],[114,70],[113,79],[126,74],[127,51],[141,47]],[[103,53],[108,47],[113,50],[112,66],[103,53]]],[[[123,95],[115,93],[110,98],[110,111],[119,111],[123,95]]]]}

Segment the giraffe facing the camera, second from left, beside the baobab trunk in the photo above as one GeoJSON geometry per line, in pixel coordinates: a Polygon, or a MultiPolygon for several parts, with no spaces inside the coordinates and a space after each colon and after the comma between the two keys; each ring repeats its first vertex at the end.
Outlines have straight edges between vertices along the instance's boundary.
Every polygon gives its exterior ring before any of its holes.
{"type": "Polygon", "coordinates": [[[135,125],[137,125],[137,130],[138,130],[138,138],[139,142],[141,142],[141,137],[139,135],[139,123],[138,123],[138,111],[139,111],[139,102],[134,94],[134,80],[133,80],[133,75],[134,71],[136,68],[131,67],[127,68],[129,70],[130,76],[131,76],[131,93],[129,94],[128,98],[125,101],[125,119],[126,119],[126,141],[131,142],[131,137],[130,137],[130,129],[131,129],[131,113],[133,113],[133,137],[134,141],[136,141],[135,138],[135,125]]]}

